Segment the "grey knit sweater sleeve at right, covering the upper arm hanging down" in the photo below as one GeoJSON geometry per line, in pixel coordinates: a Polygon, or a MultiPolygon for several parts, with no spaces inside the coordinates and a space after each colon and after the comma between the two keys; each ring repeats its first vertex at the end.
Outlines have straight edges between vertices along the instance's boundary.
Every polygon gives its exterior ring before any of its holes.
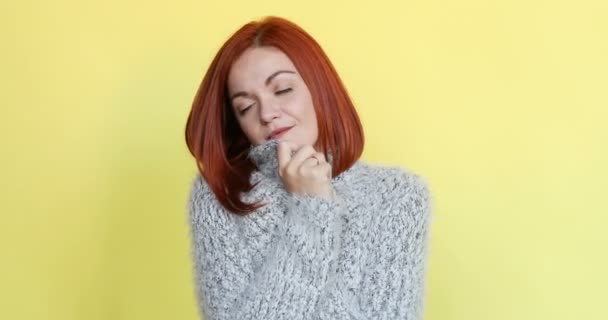
{"type": "Polygon", "coordinates": [[[362,304],[376,319],[418,320],[424,316],[431,196],[423,177],[401,169],[394,177],[386,179],[394,189],[381,206],[362,304]]]}

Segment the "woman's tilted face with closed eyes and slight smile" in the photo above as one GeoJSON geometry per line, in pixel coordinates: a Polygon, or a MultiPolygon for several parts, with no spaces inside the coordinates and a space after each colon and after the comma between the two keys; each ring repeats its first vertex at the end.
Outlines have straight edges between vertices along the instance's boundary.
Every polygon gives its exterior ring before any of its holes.
{"type": "MultiPolygon", "coordinates": [[[[275,47],[249,48],[228,74],[230,105],[251,144],[262,144],[280,128],[298,147],[315,146],[317,118],[312,97],[289,57],[275,47]]],[[[317,149],[318,150],[318,149],[317,149]]]]}

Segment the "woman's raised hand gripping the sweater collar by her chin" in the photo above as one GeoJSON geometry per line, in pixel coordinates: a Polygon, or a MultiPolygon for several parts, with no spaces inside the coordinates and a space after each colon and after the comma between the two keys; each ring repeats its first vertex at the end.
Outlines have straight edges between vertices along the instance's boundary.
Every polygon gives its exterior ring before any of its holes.
{"type": "Polygon", "coordinates": [[[293,142],[282,140],[277,147],[277,156],[279,176],[287,191],[334,199],[332,167],[322,152],[310,145],[298,148],[293,142]]]}

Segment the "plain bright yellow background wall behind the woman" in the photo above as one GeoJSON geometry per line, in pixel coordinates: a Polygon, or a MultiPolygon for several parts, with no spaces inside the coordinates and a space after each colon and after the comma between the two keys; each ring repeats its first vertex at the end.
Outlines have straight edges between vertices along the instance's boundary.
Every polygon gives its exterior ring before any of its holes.
{"type": "Polygon", "coordinates": [[[183,129],[280,15],[434,197],[427,320],[608,319],[608,2],[5,1],[0,318],[196,319],[183,129]]]}

